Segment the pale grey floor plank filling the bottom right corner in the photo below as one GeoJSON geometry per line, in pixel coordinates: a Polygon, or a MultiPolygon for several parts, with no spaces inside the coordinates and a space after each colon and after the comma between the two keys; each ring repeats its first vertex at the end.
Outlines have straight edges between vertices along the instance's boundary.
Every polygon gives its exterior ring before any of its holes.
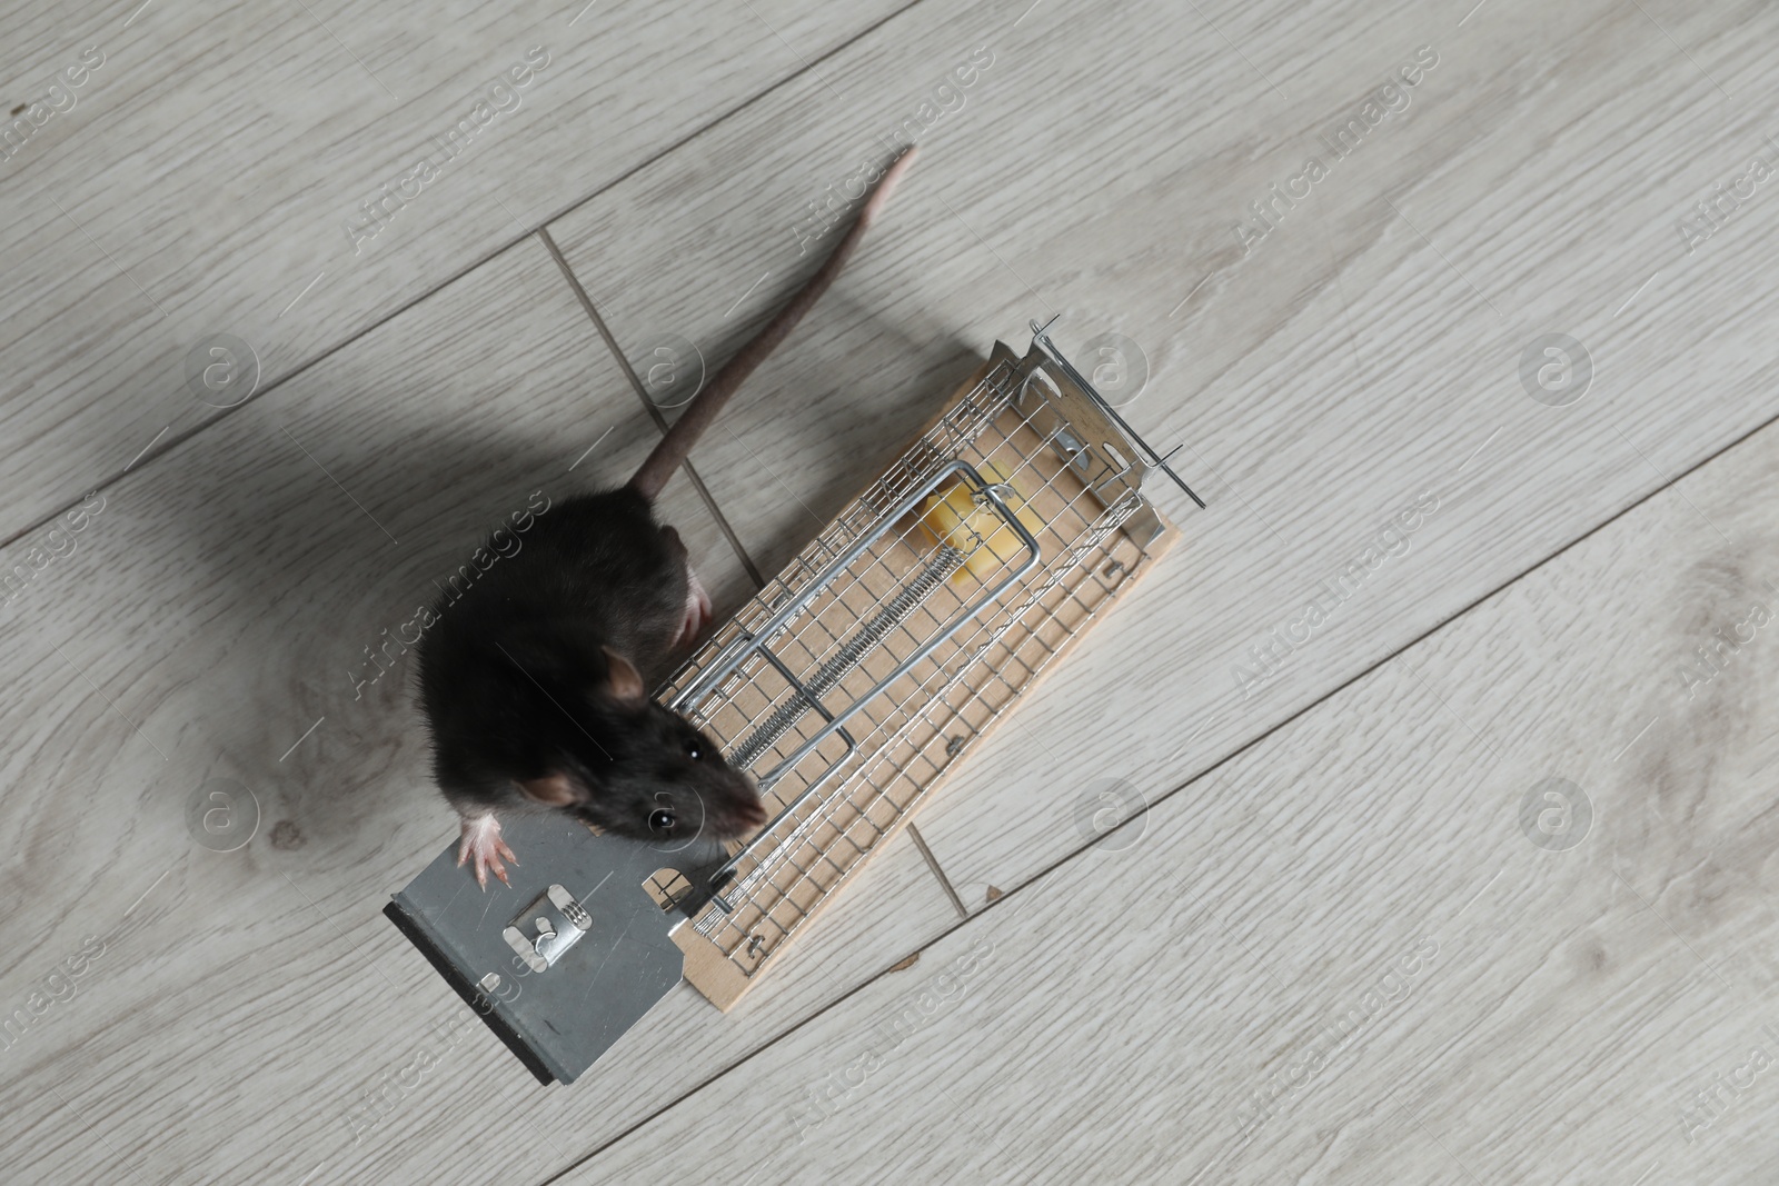
{"type": "Polygon", "coordinates": [[[560,1181],[1768,1181],[1775,482],[1779,427],[560,1181]]]}

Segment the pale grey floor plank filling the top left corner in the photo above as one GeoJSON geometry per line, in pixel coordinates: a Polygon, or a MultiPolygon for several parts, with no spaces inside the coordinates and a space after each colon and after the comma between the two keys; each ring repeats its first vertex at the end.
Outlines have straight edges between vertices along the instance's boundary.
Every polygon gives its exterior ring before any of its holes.
{"type": "Polygon", "coordinates": [[[0,539],[213,418],[217,334],[263,388],[895,7],[5,5],[0,539]]]}

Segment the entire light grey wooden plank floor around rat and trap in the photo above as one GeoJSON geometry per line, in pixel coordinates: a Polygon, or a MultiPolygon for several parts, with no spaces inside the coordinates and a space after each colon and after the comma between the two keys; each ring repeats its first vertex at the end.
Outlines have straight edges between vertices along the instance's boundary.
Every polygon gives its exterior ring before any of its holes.
{"type": "Polygon", "coordinates": [[[1772,5],[14,2],[0,68],[0,1181],[1779,1177],[1772,5]],[[365,647],[534,491],[626,477],[614,347],[726,357],[923,103],[667,491],[719,610],[1034,317],[1140,345],[1126,414],[1210,509],[1162,493],[1181,544],[922,811],[930,862],[537,1088],[381,918],[454,823],[365,647]],[[1523,382],[1544,334],[1578,402],[1523,382]],[[187,830],[213,779],[238,852],[187,830]],[[1146,809],[1083,834],[1108,781],[1146,809]]]}

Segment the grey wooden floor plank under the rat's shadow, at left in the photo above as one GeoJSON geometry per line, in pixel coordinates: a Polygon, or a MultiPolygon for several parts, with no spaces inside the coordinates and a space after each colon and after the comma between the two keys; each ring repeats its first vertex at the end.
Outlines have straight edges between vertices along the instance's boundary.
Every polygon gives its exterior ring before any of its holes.
{"type": "MultiPolygon", "coordinates": [[[[655,439],[527,240],[0,549],[18,578],[0,608],[0,884],[20,903],[0,918],[0,1179],[541,1179],[765,1040],[683,989],[614,1054],[630,1078],[607,1085],[626,1086],[580,1134],[591,1120],[564,1110],[596,1095],[537,1088],[381,918],[455,823],[406,653],[372,677],[366,647],[489,526],[623,480],[655,439]],[[238,852],[189,830],[213,779],[256,797],[238,852]],[[422,1051],[436,1074],[361,1124],[422,1051]],[[560,1152],[491,1138],[521,1120],[560,1152]]],[[[751,594],[683,478],[662,512],[719,612],[751,594]]],[[[911,848],[872,873],[856,921],[841,910],[756,1014],[808,1015],[955,919],[911,848]]]]}

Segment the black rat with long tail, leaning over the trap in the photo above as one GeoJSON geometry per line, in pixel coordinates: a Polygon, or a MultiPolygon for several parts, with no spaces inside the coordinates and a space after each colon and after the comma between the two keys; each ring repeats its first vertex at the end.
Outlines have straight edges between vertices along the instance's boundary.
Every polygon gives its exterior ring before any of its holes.
{"type": "MultiPolygon", "coordinates": [[[[463,823],[457,864],[502,882],[518,864],[500,816],[562,811],[603,832],[735,839],[765,823],[720,747],[648,695],[710,622],[704,587],[655,500],[744,379],[845,267],[914,149],[882,174],[833,254],[687,405],[635,477],[557,503],[527,548],[434,606],[416,644],[432,772],[463,823]]],[[[493,544],[493,539],[489,541],[493,544]]]]}

